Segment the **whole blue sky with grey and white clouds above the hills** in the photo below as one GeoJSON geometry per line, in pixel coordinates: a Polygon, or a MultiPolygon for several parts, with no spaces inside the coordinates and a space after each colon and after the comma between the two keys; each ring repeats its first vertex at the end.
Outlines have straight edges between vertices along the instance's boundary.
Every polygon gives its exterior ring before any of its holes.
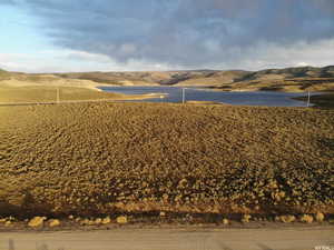
{"type": "Polygon", "coordinates": [[[10,71],[334,64],[334,0],[0,0],[0,31],[10,71]]]}

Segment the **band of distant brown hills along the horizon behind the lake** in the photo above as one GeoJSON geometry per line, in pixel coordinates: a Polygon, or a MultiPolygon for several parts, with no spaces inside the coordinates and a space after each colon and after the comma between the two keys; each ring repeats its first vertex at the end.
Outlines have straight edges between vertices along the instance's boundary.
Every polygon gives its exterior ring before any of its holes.
{"type": "Polygon", "coordinates": [[[29,81],[52,79],[89,80],[97,84],[115,86],[203,86],[224,91],[334,91],[334,66],[286,69],[185,70],[139,72],[77,72],[52,74],[12,73],[0,70],[0,80],[16,78],[29,81]]]}

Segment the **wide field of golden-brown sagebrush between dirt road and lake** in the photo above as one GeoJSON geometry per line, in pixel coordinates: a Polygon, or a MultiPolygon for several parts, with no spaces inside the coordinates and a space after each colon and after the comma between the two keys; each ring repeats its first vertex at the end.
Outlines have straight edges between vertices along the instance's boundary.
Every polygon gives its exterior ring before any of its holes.
{"type": "Polygon", "coordinates": [[[0,107],[0,216],[334,212],[334,111],[0,107]]]}

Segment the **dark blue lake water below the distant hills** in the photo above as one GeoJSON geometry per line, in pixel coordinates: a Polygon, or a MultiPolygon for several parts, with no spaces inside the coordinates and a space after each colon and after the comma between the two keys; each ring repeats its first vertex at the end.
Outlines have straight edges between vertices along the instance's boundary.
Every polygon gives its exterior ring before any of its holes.
{"type": "MultiPolygon", "coordinates": [[[[181,102],[183,89],[177,87],[100,87],[107,92],[125,94],[167,93],[164,99],[153,98],[143,101],[149,102],[181,102]]],[[[215,101],[238,106],[267,106],[267,107],[305,107],[306,102],[292,98],[306,96],[305,93],[285,93],[274,91],[256,92],[223,92],[199,88],[185,89],[186,101],[215,101]]]]}

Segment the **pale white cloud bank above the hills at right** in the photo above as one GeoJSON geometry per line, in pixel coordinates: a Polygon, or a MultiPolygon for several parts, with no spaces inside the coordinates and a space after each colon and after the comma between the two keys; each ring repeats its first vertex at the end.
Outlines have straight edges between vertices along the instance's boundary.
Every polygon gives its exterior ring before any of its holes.
{"type": "Polygon", "coordinates": [[[235,54],[234,59],[213,64],[210,68],[261,70],[334,64],[334,39],[324,39],[312,43],[299,41],[291,46],[261,42],[243,52],[233,49],[230,51],[233,52],[229,56],[235,54]]]}

